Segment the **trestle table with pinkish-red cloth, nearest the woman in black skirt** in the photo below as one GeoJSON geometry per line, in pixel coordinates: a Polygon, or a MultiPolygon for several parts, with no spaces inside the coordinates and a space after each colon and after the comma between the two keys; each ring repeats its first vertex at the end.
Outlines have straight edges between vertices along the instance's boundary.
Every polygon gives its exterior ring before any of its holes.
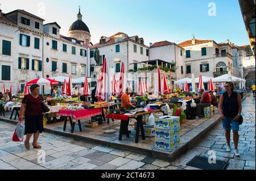
{"type": "Polygon", "coordinates": [[[69,122],[71,124],[71,133],[74,132],[76,121],[79,124],[79,129],[82,131],[81,127],[81,119],[86,119],[88,117],[101,115],[101,108],[91,109],[91,110],[79,110],[79,111],[72,111],[72,110],[59,110],[58,115],[64,117],[64,127],[63,131],[65,131],[67,126],[67,118],[69,118],[69,122]]]}

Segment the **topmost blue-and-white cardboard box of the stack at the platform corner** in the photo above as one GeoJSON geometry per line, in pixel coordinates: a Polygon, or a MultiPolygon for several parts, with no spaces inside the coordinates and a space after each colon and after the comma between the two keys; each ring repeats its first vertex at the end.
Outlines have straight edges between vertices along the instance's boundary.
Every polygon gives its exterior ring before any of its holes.
{"type": "Polygon", "coordinates": [[[155,117],[155,128],[174,129],[180,127],[179,116],[161,116],[155,117]]]}

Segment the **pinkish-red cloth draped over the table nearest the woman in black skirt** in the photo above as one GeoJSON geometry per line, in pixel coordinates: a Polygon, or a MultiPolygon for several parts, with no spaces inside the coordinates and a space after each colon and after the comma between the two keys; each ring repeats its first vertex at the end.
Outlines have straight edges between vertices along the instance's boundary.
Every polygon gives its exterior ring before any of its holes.
{"type": "Polygon", "coordinates": [[[59,116],[70,116],[73,117],[73,120],[81,120],[92,116],[101,115],[101,108],[96,108],[92,110],[59,110],[59,116]]]}

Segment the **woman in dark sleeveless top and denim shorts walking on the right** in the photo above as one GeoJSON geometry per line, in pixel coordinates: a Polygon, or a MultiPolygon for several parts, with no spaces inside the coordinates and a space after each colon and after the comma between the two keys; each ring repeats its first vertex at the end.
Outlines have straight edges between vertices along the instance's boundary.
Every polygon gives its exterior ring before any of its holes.
{"type": "Polygon", "coordinates": [[[242,104],[241,95],[234,91],[234,83],[225,83],[226,92],[221,95],[219,103],[219,111],[222,119],[222,126],[225,129],[226,142],[228,144],[226,151],[230,150],[230,129],[233,131],[233,141],[234,141],[234,152],[236,156],[239,156],[237,149],[239,140],[239,122],[242,104]]]}

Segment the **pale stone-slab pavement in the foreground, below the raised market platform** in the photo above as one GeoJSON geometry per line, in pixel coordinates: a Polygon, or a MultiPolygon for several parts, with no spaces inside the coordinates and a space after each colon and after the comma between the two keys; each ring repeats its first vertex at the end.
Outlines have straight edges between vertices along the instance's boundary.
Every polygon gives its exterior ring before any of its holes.
{"type": "MultiPolygon", "coordinates": [[[[46,163],[38,163],[38,150],[24,148],[22,142],[13,142],[14,124],[0,121],[0,169],[196,169],[186,166],[195,155],[216,151],[217,159],[229,161],[227,169],[255,169],[255,98],[249,96],[243,103],[244,123],[240,131],[241,157],[225,151],[225,134],[219,123],[195,148],[181,155],[174,162],[166,162],[131,151],[89,144],[52,133],[40,135],[46,163]]],[[[233,141],[232,141],[233,144],[233,141]]]]}

